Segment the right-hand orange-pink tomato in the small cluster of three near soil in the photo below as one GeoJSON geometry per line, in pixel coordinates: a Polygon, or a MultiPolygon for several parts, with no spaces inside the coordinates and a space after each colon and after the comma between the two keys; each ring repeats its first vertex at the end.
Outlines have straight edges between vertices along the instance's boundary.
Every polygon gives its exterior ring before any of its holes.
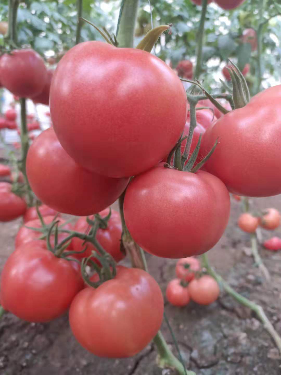
{"type": "Polygon", "coordinates": [[[200,279],[193,279],[188,284],[188,292],[191,300],[199,305],[210,305],[218,299],[220,288],[215,279],[204,275],[200,279]]]}

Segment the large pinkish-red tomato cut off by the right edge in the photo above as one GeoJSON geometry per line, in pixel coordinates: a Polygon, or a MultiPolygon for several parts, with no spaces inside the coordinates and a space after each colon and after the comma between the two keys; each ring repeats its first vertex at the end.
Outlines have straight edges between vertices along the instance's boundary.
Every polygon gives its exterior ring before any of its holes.
{"type": "Polygon", "coordinates": [[[203,136],[205,155],[219,139],[205,164],[230,192],[242,196],[281,193],[281,85],[254,96],[243,108],[227,113],[203,136]]]}

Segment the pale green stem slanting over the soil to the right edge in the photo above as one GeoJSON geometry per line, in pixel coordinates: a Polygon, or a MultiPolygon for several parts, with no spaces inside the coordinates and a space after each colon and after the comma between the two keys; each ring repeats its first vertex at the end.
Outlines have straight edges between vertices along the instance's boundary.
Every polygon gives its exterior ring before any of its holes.
{"type": "Polygon", "coordinates": [[[232,296],[241,305],[246,306],[247,308],[254,311],[254,313],[263,323],[264,328],[268,331],[269,335],[271,335],[272,339],[274,339],[275,344],[278,350],[280,351],[280,355],[281,355],[281,337],[278,335],[274,326],[269,321],[262,306],[257,305],[257,303],[254,303],[251,300],[248,300],[247,298],[243,297],[241,294],[237,293],[232,287],[230,287],[230,285],[227,284],[227,282],[220,275],[218,275],[218,273],[215,272],[215,270],[211,267],[206,254],[202,255],[202,260],[203,260],[203,266],[206,268],[209,275],[211,275],[230,296],[232,296]]]}

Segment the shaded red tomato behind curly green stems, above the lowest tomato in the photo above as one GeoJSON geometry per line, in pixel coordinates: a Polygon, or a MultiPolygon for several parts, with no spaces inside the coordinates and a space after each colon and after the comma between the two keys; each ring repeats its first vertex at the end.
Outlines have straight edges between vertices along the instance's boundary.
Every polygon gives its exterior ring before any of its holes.
{"type": "MultiPolygon", "coordinates": [[[[105,217],[109,213],[109,208],[100,212],[100,216],[105,217]]],[[[91,220],[94,219],[93,216],[90,217],[91,220]]],[[[74,226],[75,231],[81,233],[88,233],[90,230],[90,226],[86,221],[86,217],[80,217],[74,226]]],[[[111,217],[108,220],[108,227],[106,229],[99,228],[96,234],[96,239],[102,245],[102,247],[112,255],[116,262],[119,262],[121,259],[125,257],[125,254],[120,251],[120,240],[122,235],[122,223],[120,214],[115,211],[111,210],[111,217]]],[[[85,249],[85,245],[83,246],[84,241],[74,237],[72,240],[72,247],[75,251],[82,251],[85,249]]],[[[91,255],[91,251],[97,251],[94,245],[91,243],[86,243],[87,249],[82,254],[76,254],[75,257],[77,258],[84,258],[91,255]]]]}

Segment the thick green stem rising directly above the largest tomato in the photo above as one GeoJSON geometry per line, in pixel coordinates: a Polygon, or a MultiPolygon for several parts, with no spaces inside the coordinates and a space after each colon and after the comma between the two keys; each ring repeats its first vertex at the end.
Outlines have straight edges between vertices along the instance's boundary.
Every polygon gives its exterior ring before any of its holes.
{"type": "Polygon", "coordinates": [[[138,8],[139,0],[124,0],[123,7],[120,10],[117,34],[118,47],[133,48],[138,8]]]}

